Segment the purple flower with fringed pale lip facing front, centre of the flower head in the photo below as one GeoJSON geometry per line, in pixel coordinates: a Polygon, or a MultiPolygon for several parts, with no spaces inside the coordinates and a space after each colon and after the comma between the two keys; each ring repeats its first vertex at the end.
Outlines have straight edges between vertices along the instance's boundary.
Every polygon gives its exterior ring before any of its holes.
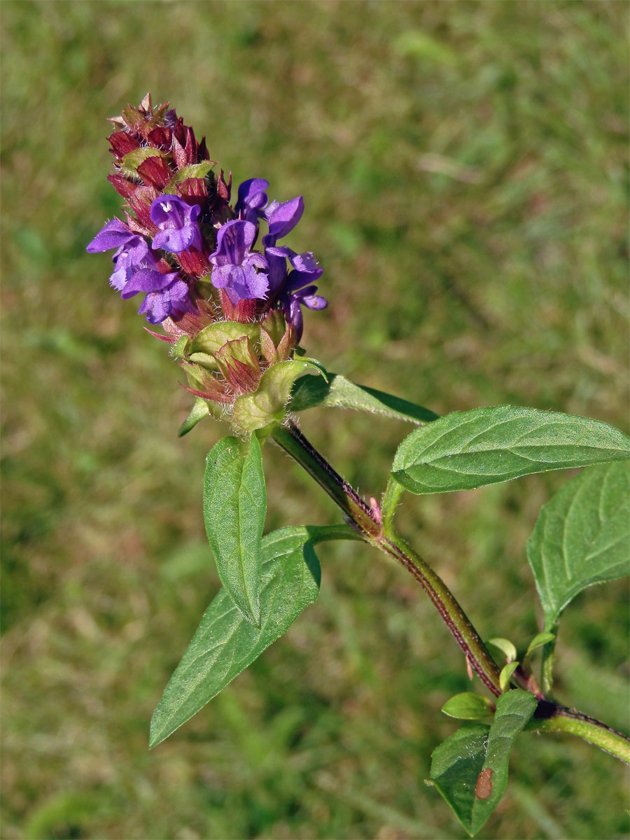
{"type": "Polygon", "coordinates": [[[264,298],[269,288],[267,260],[249,250],[255,238],[255,224],[242,219],[226,222],[218,231],[217,250],[209,258],[213,264],[213,286],[225,289],[233,306],[239,300],[264,298]]]}

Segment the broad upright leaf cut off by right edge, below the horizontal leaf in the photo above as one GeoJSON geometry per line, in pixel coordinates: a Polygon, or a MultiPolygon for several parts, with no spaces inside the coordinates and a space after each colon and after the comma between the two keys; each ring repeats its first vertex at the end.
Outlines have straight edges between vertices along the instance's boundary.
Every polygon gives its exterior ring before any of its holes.
{"type": "Polygon", "coordinates": [[[584,470],[538,515],[528,561],[543,605],[544,626],[587,586],[628,573],[630,470],[603,464],[584,470]]]}

